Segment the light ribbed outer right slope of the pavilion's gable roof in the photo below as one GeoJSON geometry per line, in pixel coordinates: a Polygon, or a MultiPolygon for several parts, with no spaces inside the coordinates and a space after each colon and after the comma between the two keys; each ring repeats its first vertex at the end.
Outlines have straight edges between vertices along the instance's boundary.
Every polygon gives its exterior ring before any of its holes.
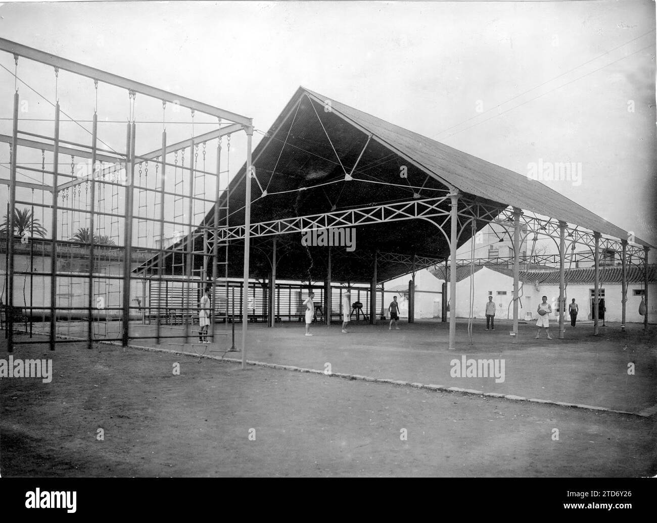
{"type": "MultiPolygon", "coordinates": [[[[321,102],[330,100],[331,110],[378,136],[390,148],[414,159],[422,165],[427,174],[463,192],[583,226],[614,238],[624,240],[629,237],[627,231],[541,182],[530,180],[514,171],[413,133],[323,94],[304,87],[300,89],[315,96],[321,102]]],[[[639,238],[635,238],[635,243],[652,247],[650,243],[639,238]]]]}

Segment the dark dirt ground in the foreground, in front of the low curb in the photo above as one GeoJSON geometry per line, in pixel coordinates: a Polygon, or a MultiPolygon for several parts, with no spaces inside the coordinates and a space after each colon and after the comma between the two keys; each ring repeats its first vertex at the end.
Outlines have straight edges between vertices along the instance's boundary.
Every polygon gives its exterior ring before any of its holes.
{"type": "Polygon", "coordinates": [[[13,354],[52,358],[53,381],[0,379],[5,477],[657,473],[655,417],[108,345],[13,354]]]}

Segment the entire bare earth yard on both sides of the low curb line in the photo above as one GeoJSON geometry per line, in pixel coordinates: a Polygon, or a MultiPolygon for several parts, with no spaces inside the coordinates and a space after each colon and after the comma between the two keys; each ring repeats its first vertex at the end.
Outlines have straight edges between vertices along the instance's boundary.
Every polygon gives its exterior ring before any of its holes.
{"type": "MultiPolygon", "coordinates": [[[[441,338],[444,327],[401,324],[402,331],[391,333],[383,325],[361,324],[340,338],[336,325],[313,325],[316,336],[306,338],[300,336],[301,324],[257,326],[248,359],[315,369],[330,362],[334,372],[633,412],[656,403],[654,333],[642,337],[638,327],[625,350],[626,337],[610,333],[591,340],[592,327],[586,326],[581,339],[555,340],[554,345],[529,341],[533,329],[525,326],[522,343],[512,346],[508,328],[500,325],[495,333],[478,331],[472,347],[462,335],[457,351],[449,352],[441,338]],[[449,360],[461,354],[505,358],[505,382],[450,378],[449,360]],[[635,363],[635,375],[627,375],[627,362],[635,363]]],[[[459,325],[459,334],[463,329],[459,325]]],[[[6,349],[1,339],[5,359],[6,349]]],[[[60,344],[55,352],[21,345],[13,356],[52,358],[53,381],[0,379],[0,472],[5,477],[657,472],[654,416],[263,367],[242,370],[229,362],[134,348],[124,352],[110,345],[87,350],[83,344],[60,344]],[[176,362],[179,375],[173,374],[176,362]],[[102,441],[98,429],[104,430],[102,441]]]]}

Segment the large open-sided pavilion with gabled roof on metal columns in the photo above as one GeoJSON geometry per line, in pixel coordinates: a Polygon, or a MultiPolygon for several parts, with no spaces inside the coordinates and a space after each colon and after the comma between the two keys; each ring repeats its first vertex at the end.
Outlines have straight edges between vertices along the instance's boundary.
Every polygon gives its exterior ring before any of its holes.
{"type": "MultiPolygon", "coordinates": [[[[231,180],[229,201],[220,200],[194,232],[194,251],[212,252],[215,241],[225,245],[225,276],[242,274],[245,281],[369,283],[370,322],[377,316],[377,286],[419,268],[445,263],[455,272],[463,264],[511,263],[517,299],[520,264],[558,263],[562,303],[564,268],[574,257],[595,263],[597,289],[601,252],[620,253],[625,274],[630,262],[645,270],[651,247],[544,184],[304,87],[255,148],[253,166],[240,169],[231,180]],[[214,229],[217,220],[221,227],[214,229]],[[516,248],[512,259],[457,260],[457,248],[493,220],[515,224],[507,230],[514,245],[524,240],[520,231],[526,228],[526,236],[552,238],[560,255],[522,257],[516,248]],[[353,252],[344,245],[308,247],[302,241],[309,231],[344,228],[355,228],[353,252]],[[279,262],[281,251],[288,255],[284,262],[279,262]]],[[[155,259],[140,268],[155,269],[155,259]]],[[[206,272],[208,285],[217,285],[216,274],[206,272]]],[[[450,282],[451,296],[455,283],[450,282]]],[[[331,293],[324,295],[324,308],[331,310],[331,293]]],[[[563,311],[560,307],[560,325],[563,311]]],[[[248,315],[246,299],[243,314],[248,315]]],[[[513,318],[516,333],[516,303],[513,318]]],[[[455,348],[454,314],[449,322],[449,348],[455,348]]],[[[594,329],[597,334],[597,320],[594,329]]],[[[246,323],[243,330],[244,349],[246,323]]]]}

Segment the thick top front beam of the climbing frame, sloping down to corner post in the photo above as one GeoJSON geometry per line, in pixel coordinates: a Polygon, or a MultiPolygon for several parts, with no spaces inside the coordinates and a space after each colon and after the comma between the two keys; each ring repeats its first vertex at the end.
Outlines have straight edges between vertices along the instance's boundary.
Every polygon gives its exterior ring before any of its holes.
{"type": "Polygon", "coordinates": [[[100,69],[85,66],[83,64],[79,64],[78,62],[67,60],[66,58],[61,58],[60,56],[56,56],[55,54],[51,54],[49,52],[39,51],[39,49],[34,49],[33,47],[28,47],[20,43],[12,42],[11,40],[7,40],[5,38],[0,38],[0,50],[11,52],[12,54],[18,54],[18,56],[23,56],[24,58],[35,60],[35,62],[41,62],[42,64],[47,64],[49,66],[63,69],[64,71],[86,76],[87,78],[91,78],[93,80],[116,85],[116,87],[129,89],[130,91],[135,91],[135,93],[152,96],[152,98],[157,98],[163,102],[170,102],[172,104],[187,107],[198,112],[216,116],[217,118],[223,118],[226,120],[234,121],[236,123],[241,123],[242,125],[246,125],[248,127],[253,125],[253,121],[249,117],[219,109],[202,102],[197,102],[196,100],[192,100],[191,98],[187,98],[185,96],[169,93],[168,91],[163,91],[162,89],[156,89],[155,87],[151,87],[145,83],[136,82],[122,76],[102,71],[100,69]]]}

